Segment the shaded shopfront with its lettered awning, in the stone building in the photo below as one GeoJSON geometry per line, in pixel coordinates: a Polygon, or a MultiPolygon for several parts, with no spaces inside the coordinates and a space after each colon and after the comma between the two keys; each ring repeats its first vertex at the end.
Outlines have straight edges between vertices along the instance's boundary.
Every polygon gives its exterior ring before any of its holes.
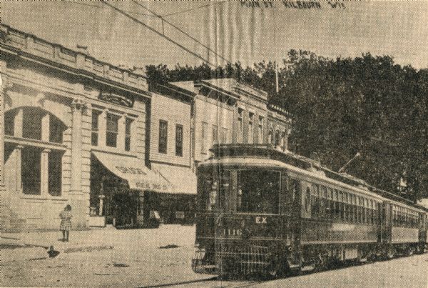
{"type": "Polygon", "coordinates": [[[91,155],[91,226],[158,227],[158,194],[173,187],[141,159],[106,152],[91,155]]]}

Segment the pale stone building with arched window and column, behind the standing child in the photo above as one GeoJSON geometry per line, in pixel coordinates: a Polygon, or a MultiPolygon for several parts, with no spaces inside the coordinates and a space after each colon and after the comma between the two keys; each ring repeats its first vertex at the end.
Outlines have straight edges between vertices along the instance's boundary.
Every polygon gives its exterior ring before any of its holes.
{"type": "Polygon", "coordinates": [[[0,49],[1,229],[58,229],[66,204],[85,229],[103,214],[93,162],[147,169],[146,76],[6,25],[0,49]]]}

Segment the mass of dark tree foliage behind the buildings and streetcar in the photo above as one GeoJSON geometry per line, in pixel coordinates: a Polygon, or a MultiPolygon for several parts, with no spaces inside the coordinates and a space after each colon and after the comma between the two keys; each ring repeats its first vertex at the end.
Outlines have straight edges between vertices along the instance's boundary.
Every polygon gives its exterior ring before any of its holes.
{"type": "Polygon", "coordinates": [[[146,66],[149,79],[188,81],[229,78],[263,89],[271,103],[295,116],[290,147],[338,170],[415,200],[428,197],[428,70],[394,64],[391,56],[327,59],[291,50],[278,71],[263,61],[243,68],[146,66]],[[403,179],[407,187],[399,191],[403,179]]]}

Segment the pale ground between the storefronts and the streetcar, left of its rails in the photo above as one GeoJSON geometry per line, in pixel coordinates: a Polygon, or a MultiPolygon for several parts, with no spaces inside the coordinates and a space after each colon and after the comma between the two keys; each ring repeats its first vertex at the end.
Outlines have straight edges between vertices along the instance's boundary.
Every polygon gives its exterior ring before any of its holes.
{"type": "Polygon", "coordinates": [[[71,232],[69,244],[58,242],[60,232],[2,236],[54,244],[61,253],[1,249],[1,287],[144,287],[210,278],[190,267],[195,227],[71,232]],[[159,248],[170,244],[178,247],[159,248]]]}

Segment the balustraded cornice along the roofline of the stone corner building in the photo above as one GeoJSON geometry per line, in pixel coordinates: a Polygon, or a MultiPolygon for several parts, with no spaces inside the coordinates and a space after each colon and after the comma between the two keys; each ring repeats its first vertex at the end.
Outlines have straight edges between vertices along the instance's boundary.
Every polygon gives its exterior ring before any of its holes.
{"type": "Polygon", "coordinates": [[[60,44],[45,41],[5,24],[0,24],[0,28],[2,58],[19,57],[72,74],[83,81],[93,80],[99,84],[124,89],[146,98],[151,96],[148,92],[146,75],[108,64],[81,51],[74,51],[60,44]]]}

